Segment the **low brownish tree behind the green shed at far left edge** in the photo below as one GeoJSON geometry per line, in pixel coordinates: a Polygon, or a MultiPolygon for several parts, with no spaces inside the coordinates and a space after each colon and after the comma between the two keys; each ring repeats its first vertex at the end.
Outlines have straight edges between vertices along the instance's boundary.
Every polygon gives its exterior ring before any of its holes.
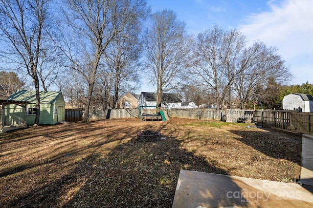
{"type": "Polygon", "coordinates": [[[6,99],[14,91],[21,89],[24,83],[14,72],[0,72],[0,99],[6,99]]]}

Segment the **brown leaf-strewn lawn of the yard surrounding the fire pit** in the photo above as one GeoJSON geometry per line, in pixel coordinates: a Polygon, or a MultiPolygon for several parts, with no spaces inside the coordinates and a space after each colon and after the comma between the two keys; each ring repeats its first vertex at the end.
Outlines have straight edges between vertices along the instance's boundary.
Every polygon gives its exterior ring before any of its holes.
{"type": "Polygon", "coordinates": [[[301,136],[171,119],[75,122],[0,134],[2,207],[171,207],[180,169],[298,179],[301,136]],[[136,141],[154,130],[167,140],[136,141]]]}

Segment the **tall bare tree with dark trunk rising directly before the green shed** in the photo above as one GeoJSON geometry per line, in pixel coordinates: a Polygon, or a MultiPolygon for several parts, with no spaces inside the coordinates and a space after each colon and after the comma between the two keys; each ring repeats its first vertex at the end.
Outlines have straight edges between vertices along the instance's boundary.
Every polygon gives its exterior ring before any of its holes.
{"type": "Polygon", "coordinates": [[[2,59],[24,68],[36,91],[36,118],[39,124],[40,97],[38,60],[44,41],[49,0],[0,0],[0,37],[12,47],[4,47],[2,59]]]}

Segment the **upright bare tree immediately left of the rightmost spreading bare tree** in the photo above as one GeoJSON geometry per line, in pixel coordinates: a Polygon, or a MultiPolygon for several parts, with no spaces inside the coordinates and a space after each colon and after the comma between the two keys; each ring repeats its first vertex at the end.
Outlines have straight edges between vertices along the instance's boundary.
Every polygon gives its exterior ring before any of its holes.
{"type": "Polygon", "coordinates": [[[224,31],[217,25],[196,38],[192,73],[214,91],[218,109],[220,105],[224,108],[235,77],[243,71],[238,59],[245,43],[239,31],[224,31]]]}

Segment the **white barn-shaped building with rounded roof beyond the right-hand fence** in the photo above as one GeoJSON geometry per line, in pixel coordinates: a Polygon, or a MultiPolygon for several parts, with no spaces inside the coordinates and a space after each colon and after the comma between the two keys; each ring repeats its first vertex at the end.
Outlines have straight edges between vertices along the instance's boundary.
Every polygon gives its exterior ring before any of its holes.
{"type": "Polygon", "coordinates": [[[313,112],[313,97],[311,95],[292,93],[283,99],[284,110],[302,109],[302,112],[313,112]]]}

